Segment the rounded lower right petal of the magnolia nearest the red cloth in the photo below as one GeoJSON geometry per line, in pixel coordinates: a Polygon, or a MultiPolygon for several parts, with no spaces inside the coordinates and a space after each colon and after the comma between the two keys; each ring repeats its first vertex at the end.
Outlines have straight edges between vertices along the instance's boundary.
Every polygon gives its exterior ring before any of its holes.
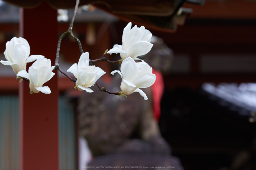
{"type": "Polygon", "coordinates": [[[152,73],[146,73],[140,75],[132,82],[137,88],[147,88],[155,83],[155,75],[152,73]]]}

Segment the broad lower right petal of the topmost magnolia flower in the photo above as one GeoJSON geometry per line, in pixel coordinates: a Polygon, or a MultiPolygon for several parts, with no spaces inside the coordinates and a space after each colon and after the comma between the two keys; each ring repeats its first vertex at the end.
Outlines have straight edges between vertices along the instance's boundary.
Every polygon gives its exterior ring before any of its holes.
{"type": "Polygon", "coordinates": [[[138,41],[131,45],[131,47],[127,51],[127,56],[132,57],[132,58],[142,56],[142,55],[150,52],[152,47],[153,47],[153,44],[151,44],[147,41],[138,41]]]}

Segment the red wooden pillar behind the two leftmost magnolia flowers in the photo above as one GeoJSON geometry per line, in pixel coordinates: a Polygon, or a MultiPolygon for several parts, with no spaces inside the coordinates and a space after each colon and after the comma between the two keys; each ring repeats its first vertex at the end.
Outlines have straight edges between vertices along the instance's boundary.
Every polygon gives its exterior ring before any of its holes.
{"type": "MultiPolygon", "coordinates": [[[[56,10],[45,1],[35,8],[21,9],[20,36],[29,42],[30,55],[43,55],[54,65],[58,40],[56,10]]],[[[27,70],[31,64],[27,64],[27,70]]],[[[29,83],[20,82],[20,170],[59,170],[59,91],[54,72],[53,78],[44,84],[51,94],[30,94],[29,83]]]]}

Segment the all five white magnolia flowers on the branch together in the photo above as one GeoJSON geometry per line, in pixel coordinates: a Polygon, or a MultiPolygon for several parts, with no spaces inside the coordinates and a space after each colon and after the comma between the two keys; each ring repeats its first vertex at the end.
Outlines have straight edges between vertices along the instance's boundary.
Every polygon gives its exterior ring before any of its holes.
{"type": "MultiPolygon", "coordinates": [[[[140,95],[147,100],[147,95],[140,88],[147,88],[154,84],[155,75],[152,73],[152,68],[143,60],[137,58],[147,54],[153,44],[151,44],[152,34],[146,30],[144,26],[138,28],[134,26],[131,29],[132,23],[128,23],[124,28],[122,45],[114,45],[108,53],[120,53],[121,72],[113,71],[111,74],[119,73],[122,78],[121,92],[124,95],[139,92],[140,95]],[[135,60],[140,60],[136,63],[135,60]]],[[[17,75],[17,80],[20,82],[22,78],[29,79],[30,93],[38,93],[39,91],[50,94],[50,88],[43,86],[45,82],[50,80],[54,66],[51,66],[51,61],[41,55],[31,55],[29,43],[24,38],[12,38],[6,43],[4,56],[7,61],[1,60],[4,65],[10,65],[17,75]],[[37,61],[35,61],[37,60],[37,61]],[[26,71],[26,64],[35,61],[26,71]]],[[[76,88],[78,90],[86,90],[93,92],[90,89],[96,81],[105,74],[105,72],[94,65],[89,64],[89,53],[83,53],[80,56],[78,64],[73,64],[67,72],[71,72],[76,77],[76,88]]]]}

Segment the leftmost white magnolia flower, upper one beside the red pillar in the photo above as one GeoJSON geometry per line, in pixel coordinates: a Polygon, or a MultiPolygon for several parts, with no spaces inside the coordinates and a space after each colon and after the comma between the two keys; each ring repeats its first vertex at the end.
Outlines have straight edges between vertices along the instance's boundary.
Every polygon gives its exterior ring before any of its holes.
{"type": "Polygon", "coordinates": [[[12,38],[11,41],[8,41],[5,46],[6,49],[4,51],[4,56],[7,61],[1,60],[0,62],[4,65],[10,65],[13,68],[15,74],[21,70],[26,70],[27,63],[44,57],[41,55],[29,56],[29,43],[22,37],[12,38]]]}

